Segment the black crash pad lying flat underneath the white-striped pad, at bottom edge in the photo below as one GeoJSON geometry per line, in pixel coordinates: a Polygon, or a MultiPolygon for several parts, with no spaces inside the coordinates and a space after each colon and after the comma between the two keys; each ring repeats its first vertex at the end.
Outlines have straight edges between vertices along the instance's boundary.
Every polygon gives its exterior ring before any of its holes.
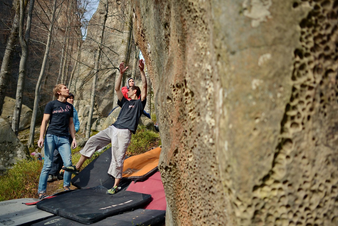
{"type": "MultiPolygon", "coordinates": [[[[136,226],[136,225],[156,225],[164,221],[166,215],[165,210],[154,209],[136,209],[131,212],[118,214],[112,217],[108,217],[99,222],[93,223],[93,226],[101,225],[123,225],[123,226],[136,226]]],[[[45,221],[41,221],[33,224],[32,226],[81,226],[82,223],[56,216],[45,221]]]]}

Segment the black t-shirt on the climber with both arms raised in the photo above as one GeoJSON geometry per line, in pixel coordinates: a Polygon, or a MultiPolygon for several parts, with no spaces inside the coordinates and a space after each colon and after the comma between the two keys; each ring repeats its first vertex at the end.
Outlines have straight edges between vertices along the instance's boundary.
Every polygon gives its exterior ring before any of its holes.
{"type": "Polygon", "coordinates": [[[135,134],[146,102],[147,99],[144,99],[144,101],[141,101],[141,99],[128,101],[122,97],[121,101],[117,101],[117,104],[121,107],[119,116],[112,125],[118,129],[129,129],[135,134]]]}

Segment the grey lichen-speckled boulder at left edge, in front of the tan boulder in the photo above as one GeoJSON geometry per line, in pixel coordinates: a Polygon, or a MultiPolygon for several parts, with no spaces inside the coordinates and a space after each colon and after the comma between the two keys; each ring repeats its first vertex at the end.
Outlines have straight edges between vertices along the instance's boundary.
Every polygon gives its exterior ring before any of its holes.
{"type": "Polygon", "coordinates": [[[20,142],[9,124],[0,117],[0,175],[13,168],[17,159],[26,159],[27,156],[27,146],[20,142]]]}

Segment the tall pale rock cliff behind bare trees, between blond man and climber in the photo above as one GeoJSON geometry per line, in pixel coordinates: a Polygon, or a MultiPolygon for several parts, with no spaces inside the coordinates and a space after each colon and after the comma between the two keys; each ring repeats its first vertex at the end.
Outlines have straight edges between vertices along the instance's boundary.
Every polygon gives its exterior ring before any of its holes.
{"type": "MultiPolygon", "coordinates": [[[[97,42],[100,40],[104,10],[104,1],[100,1],[98,9],[89,23],[90,26],[88,27],[86,40],[82,43],[81,64],[76,68],[78,72],[70,87],[71,92],[73,91],[76,95],[75,98],[88,101],[87,105],[90,103],[92,93],[93,68],[98,47],[97,42]]],[[[115,76],[119,73],[118,67],[120,64],[121,43],[123,41],[123,28],[127,22],[126,14],[128,12],[129,9],[126,1],[108,0],[108,17],[103,35],[103,47],[95,98],[96,111],[98,116],[101,117],[107,117],[113,106],[117,106],[116,101],[114,101],[115,76]]],[[[131,44],[130,56],[134,55],[135,44],[131,44]]],[[[125,66],[129,66],[129,69],[132,68],[131,62],[125,63],[125,66]]],[[[131,73],[131,71],[128,70],[127,73],[131,73]]],[[[126,76],[131,77],[127,73],[126,76]]],[[[94,118],[98,116],[94,116],[94,118]]],[[[86,123],[87,119],[81,121],[81,124],[84,126],[83,128],[85,128],[84,124],[86,123]]]]}

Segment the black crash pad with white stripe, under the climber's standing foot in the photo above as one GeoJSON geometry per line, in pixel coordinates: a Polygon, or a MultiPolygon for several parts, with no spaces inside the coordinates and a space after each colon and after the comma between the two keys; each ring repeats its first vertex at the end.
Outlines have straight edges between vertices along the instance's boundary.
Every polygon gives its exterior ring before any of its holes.
{"type": "Polygon", "coordinates": [[[112,215],[137,209],[151,200],[150,194],[121,190],[108,195],[105,193],[106,190],[107,188],[103,186],[76,190],[42,200],[37,203],[37,207],[83,224],[91,224],[112,215]]]}

